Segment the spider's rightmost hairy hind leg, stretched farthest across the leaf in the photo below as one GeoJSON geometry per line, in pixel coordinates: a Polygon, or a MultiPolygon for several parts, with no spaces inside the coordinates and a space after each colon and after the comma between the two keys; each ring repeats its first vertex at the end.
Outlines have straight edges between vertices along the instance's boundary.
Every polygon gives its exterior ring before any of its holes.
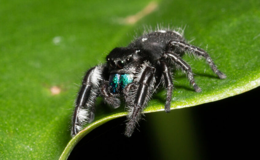
{"type": "Polygon", "coordinates": [[[187,43],[185,43],[183,41],[171,41],[170,44],[179,53],[190,52],[194,56],[204,57],[206,59],[206,62],[209,64],[209,66],[213,70],[213,72],[215,72],[216,75],[218,75],[218,77],[220,79],[225,79],[227,77],[224,73],[220,72],[220,70],[217,69],[217,67],[214,64],[213,60],[211,59],[211,57],[208,55],[208,53],[205,50],[200,49],[198,47],[195,47],[193,45],[189,45],[189,44],[187,44],[187,43]]]}

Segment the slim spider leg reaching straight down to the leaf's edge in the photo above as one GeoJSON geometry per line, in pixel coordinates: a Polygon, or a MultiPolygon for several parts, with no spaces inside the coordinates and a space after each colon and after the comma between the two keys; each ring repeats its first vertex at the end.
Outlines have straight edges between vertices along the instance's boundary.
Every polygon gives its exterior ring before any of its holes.
{"type": "Polygon", "coordinates": [[[165,88],[167,90],[166,94],[166,103],[165,103],[165,111],[166,113],[170,112],[170,103],[172,98],[172,91],[173,91],[173,83],[172,83],[172,73],[170,72],[170,68],[168,67],[168,64],[166,60],[161,59],[160,60],[161,69],[162,69],[162,76],[163,76],[163,82],[165,85],[165,88]]]}

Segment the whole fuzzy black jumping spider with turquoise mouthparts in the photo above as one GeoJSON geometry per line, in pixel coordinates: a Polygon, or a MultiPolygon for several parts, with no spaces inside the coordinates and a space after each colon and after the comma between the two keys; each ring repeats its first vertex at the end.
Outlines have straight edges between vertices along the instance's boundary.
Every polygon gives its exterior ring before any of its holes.
{"type": "Polygon", "coordinates": [[[213,60],[203,49],[186,43],[182,34],[174,30],[158,30],[144,33],[127,47],[113,49],[106,57],[107,63],[90,68],[82,81],[75,102],[71,136],[75,136],[85,123],[94,119],[94,104],[97,96],[105,103],[117,108],[122,97],[128,108],[125,135],[130,137],[152,94],[160,82],[167,90],[165,111],[170,112],[173,83],[171,66],[185,71],[196,92],[201,88],[194,81],[189,64],[182,60],[184,53],[204,57],[220,79],[220,72],[213,60]]]}

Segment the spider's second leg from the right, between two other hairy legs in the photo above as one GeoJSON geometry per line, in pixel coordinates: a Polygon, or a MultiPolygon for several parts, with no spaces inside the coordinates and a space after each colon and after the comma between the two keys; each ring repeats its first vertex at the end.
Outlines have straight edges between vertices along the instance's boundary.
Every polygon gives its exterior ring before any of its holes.
{"type": "Polygon", "coordinates": [[[181,57],[179,54],[174,53],[174,52],[166,52],[164,53],[164,55],[162,55],[162,57],[165,58],[170,58],[170,60],[172,61],[173,64],[176,65],[177,68],[182,69],[182,71],[185,71],[187,74],[187,77],[189,79],[189,83],[193,86],[194,90],[196,92],[201,92],[201,88],[199,88],[197,86],[197,84],[195,83],[194,80],[194,73],[192,72],[191,67],[189,66],[189,64],[187,64],[181,57]]]}

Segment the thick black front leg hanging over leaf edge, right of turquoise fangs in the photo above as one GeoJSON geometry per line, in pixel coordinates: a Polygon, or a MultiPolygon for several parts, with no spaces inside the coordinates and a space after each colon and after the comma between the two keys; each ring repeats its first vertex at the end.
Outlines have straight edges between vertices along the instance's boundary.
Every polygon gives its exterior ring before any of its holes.
{"type": "Polygon", "coordinates": [[[127,116],[126,130],[124,135],[130,137],[141,117],[141,111],[147,105],[155,84],[155,68],[148,63],[143,64],[141,72],[134,79],[135,88],[132,90],[132,103],[128,104],[129,114],[127,116]]]}

